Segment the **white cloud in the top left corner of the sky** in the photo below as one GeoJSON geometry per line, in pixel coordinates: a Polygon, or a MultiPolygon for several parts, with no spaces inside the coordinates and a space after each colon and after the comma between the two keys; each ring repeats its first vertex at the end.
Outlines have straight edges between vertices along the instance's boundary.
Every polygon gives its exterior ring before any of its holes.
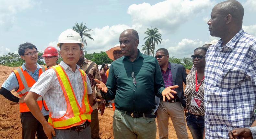
{"type": "Polygon", "coordinates": [[[12,27],[16,14],[33,5],[32,0],[0,0],[0,28],[12,27]]]}

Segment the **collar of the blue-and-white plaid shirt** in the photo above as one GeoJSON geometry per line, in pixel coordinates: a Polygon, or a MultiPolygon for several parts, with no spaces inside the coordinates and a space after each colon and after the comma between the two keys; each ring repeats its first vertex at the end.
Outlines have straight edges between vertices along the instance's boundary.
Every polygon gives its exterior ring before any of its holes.
{"type": "MultiPolygon", "coordinates": [[[[238,31],[238,33],[237,33],[225,46],[227,46],[228,48],[230,48],[230,49],[232,50],[232,49],[235,47],[235,44],[237,43],[237,41],[239,40],[239,38],[240,38],[243,34],[244,34],[244,30],[243,30],[243,29],[240,29],[240,30],[238,31]]],[[[216,49],[216,48],[221,49],[221,48],[225,47],[225,46],[222,46],[222,44],[223,44],[223,40],[220,39],[220,40],[218,41],[218,43],[216,43],[216,46],[215,46],[214,49],[216,49]]]]}

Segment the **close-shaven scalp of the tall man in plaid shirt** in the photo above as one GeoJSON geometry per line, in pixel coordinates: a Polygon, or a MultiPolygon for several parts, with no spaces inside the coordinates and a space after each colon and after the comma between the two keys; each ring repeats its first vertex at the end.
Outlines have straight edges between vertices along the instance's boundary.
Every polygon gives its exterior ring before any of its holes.
{"type": "Polygon", "coordinates": [[[231,15],[233,21],[242,27],[244,8],[238,1],[227,0],[215,5],[214,8],[218,9],[219,14],[223,16],[231,15]]]}

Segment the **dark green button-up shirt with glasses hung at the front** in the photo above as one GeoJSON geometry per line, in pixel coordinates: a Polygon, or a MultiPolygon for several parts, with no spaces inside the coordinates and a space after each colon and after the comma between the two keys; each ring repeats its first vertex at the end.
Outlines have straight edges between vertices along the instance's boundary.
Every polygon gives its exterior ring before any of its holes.
{"type": "Polygon", "coordinates": [[[134,62],[121,57],[111,63],[106,83],[107,93],[101,92],[106,100],[115,99],[115,106],[127,112],[148,112],[156,108],[155,95],[160,97],[165,89],[157,59],[140,53],[134,62]],[[132,72],[136,79],[133,82],[132,72]]]}

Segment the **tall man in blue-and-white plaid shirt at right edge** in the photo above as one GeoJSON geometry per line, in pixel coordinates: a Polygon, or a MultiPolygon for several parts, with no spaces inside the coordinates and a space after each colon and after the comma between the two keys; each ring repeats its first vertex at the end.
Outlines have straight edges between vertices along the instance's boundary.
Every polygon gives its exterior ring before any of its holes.
{"type": "Polygon", "coordinates": [[[256,37],[242,29],[243,6],[236,0],[215,5],[208,21],[221,39],[206,52],[205,139],[228,138],[228,130],[256,119],[256,37]]]}

